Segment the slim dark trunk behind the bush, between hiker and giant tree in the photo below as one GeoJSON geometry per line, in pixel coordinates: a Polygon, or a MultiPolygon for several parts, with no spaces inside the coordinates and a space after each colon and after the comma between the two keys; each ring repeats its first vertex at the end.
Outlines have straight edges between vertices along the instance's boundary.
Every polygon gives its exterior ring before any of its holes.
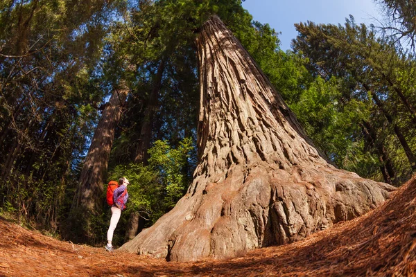
{"type": "MultiPolygon", "coordinates": [[[[157,68],[155,79],[153,80],[153,88],[148,99],[148,105],[144,113],[144,119],[141,123],[141,131],[139,136],[139,145],[137,146],[137,152],[135,157],[135,163],[147,164],[148,154],[147,151],[150,148],[150,141],[152,139],[152,126],[153,118],[157,109],[157,103],[159,99],[159,91],[162,87],[162,77],[165,67],[165,58],[162,58],[157,68]]],[[[124,241],[128,242],[135,238],[139,231],[139,212],[134,211],[130,213],[127,227],[125,229],[124,241]]]]}

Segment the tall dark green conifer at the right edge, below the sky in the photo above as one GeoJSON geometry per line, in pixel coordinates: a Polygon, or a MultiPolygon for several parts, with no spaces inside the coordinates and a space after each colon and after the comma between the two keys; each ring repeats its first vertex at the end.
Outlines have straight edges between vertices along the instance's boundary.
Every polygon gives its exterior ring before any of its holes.
{"type": "MultiPolygon", "coordinates": [[[[412,60],[391,41],[377,39],[374,30],[365,25],[357,26],[354,19],[348,20],[345,27],[308,22],[296,24],[296,28],[300,35],[294,40],[295,51],[302,51],[302,55],[309,58],[311,73],[325,80],[332,77],[343,80],[343,94],[337,101],[345,104],[361,102],[361,107],[370,111],[367,116],[372,118],[369,122],[372,129],[387,126],[383,132],[378,129],[379,132],[372,133],[376,145],[390,144],[388,148],[391,149],[398,144],[401,148],[390,150],[390,158],[383,154],[382,147],[376,148],[379,157],[385,157],[381,165],[384,167],[388,163],[391,166],[390,159],[395,157],[395,163],[400,165],[399,171],[403,173],[401,181],[406,179],[416,169],[412,135],[416,102],[413,90],[403,84],[401,74],[411,74],[412,60]],[[392,144],[392,136],[397,143],[392,144]],[[403,159],[408,163],[403,163],[403,159]]],[[[357,118],[354,124],[363,127],[365,117],[357,118]]]]}

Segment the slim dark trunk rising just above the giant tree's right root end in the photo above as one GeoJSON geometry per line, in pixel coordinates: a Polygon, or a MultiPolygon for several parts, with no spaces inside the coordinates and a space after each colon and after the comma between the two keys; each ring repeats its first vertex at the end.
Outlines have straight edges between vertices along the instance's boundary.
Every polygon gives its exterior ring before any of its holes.
{"type": "Polygon", "coordinates": [[[383,175],[384,181],[388,184],[393,184],[395,182],[396,172],[393,168],[392,161],[388,157],[387,152],[385,151],[384,146],[379,142],[374,132],[374,128],[370,125],[370,123],[363,121],[361,123],[363,127],[363,132],[365,134],[365,138],[370,143],[370,145],[374,145],[378,152],[379,161],[381,163],[380,170],[381,174],[383,175]]]}

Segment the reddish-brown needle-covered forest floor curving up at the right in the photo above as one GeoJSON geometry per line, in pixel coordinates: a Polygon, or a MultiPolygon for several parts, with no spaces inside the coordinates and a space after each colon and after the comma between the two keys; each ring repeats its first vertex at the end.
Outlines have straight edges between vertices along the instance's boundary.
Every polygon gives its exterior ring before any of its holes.
{"type": "Polygon", "coordinates": [[[228,260],[166,262],[108,253],[0,217],[0,276],[416,276],[416,177],[355,220],[228,260]]]}

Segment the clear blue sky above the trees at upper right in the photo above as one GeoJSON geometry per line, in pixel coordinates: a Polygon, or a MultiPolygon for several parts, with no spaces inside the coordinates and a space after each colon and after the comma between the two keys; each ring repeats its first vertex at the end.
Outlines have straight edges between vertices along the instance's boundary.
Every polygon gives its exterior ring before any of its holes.
{"type": "Polygon", "coordinates": [[[378,25],[380,8],[373,0],[245,0],[243,7],[263,24],[268,23],[281,32],[281,50],[290,49],[291,40],[297,35],[293,24],[313,21],[323,24],[344,24],[353,15],[357,23],[378,25]]]}

